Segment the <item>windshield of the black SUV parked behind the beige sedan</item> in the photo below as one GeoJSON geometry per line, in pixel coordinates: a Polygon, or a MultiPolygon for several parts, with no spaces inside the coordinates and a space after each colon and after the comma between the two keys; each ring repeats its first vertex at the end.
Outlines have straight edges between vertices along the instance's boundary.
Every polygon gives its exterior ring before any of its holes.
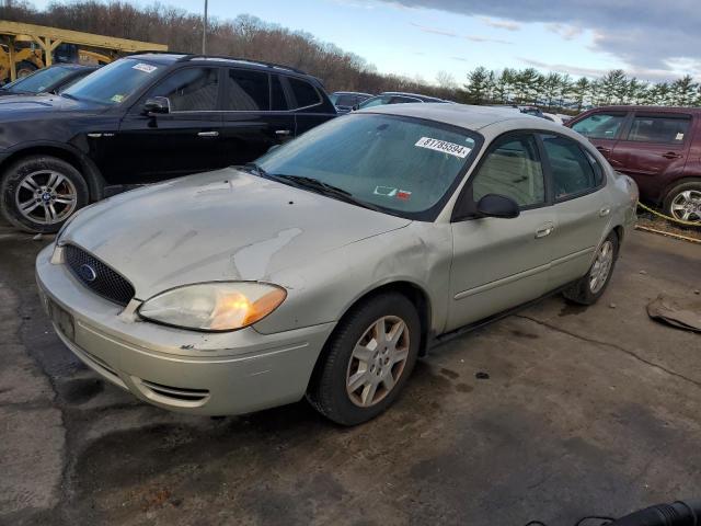
{"type": "Polygon", "coordinates": [[[122,59],[103,66],[62,93],[81,101],[119,104],[153,79],[163,66],[135,59],[122,59]]]}

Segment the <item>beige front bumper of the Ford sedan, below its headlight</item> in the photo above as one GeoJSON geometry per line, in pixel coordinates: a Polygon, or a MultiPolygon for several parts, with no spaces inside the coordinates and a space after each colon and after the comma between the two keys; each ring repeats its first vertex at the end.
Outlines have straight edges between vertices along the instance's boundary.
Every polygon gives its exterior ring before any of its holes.
{"type": "Polygon", "coordinates": [[[138,300],[122,308],[96,296],[66,265],[51,263],[53,249],[37,256],[36,279],[45,307],[72,321],[68,331],[54,320],[59,338],[111,382],[169,410],[225,415],[295,402],[335,327],[199,333],[145,322],[136,316],[138,300]]]}

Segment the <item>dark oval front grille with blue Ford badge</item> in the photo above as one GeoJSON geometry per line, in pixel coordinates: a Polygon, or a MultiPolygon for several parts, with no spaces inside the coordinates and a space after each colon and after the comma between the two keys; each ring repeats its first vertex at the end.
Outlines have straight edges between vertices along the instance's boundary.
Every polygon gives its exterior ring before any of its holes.
{"type": "Polygon", "coordinates": [[[119,273],[76,245],[67,244],[64,251],[70,272],[92,291],[123,306],[131,300],[134,287],[119,273]]]}

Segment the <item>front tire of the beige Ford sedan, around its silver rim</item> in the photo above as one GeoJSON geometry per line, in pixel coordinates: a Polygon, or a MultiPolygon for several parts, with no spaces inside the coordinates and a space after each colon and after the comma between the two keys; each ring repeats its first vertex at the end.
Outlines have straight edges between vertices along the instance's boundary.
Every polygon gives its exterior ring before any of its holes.
{"type": "Polygon", "coordinates": [[[342,425],[376,418],[394,403],[411,376],[420,340],[421,321],[405,296],[386,293],[369,298],[338,323],[317,365],[307,399],[321,414],[342,425]],[[387,346],[374,352],[380,327],[386,335],[400,336],[395,344],[387,341],[387,346]],[[347,387],[352,378],[361,378],[354,391],[347,387]]]}

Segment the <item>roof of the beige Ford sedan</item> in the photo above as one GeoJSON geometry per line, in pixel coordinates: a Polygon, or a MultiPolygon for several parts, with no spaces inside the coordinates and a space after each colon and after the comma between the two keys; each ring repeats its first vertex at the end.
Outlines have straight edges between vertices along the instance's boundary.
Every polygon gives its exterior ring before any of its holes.
{"type": "Polygon", "coordinates": [[[552,121],[514,112],[513,110],[505,107],[471,106],[467,104],[407,103],[374,106],[366,110],[359,110],[356,113],[381,113],[386,115],[425,118],[475,132],[479,130],[487,139],[509,129],[551,130],[573,136],[578,140],[582,139],[579,134],[572,132],[568,128],[564,128],[562,125],[555,124],[552,121]],[[491,130],[485,130],[485,128],[495,124],[498,124],[499,126],[496,126],[491,130]]]}

